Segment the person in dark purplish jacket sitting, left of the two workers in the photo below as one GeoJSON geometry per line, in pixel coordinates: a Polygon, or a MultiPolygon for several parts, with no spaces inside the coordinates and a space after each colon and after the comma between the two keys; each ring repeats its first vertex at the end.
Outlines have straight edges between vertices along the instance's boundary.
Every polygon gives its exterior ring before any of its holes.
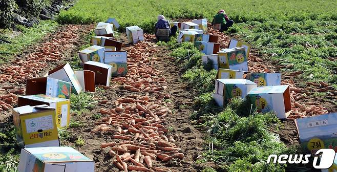
{"type": "Polygon", "coordinates": [[[168,21],[165,19],[163,15],[158,15],[158,21],[156,23],[156,37],[161,41],[170,40],[170,36],[175,35],[178,27],[173,26],[171,28],[168,21]]]}

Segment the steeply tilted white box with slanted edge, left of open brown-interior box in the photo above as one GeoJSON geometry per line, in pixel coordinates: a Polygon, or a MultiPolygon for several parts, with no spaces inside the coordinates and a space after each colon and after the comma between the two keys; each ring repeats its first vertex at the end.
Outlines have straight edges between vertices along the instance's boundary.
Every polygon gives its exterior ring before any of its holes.
{"type": "Polygon", "coordinates": [[[72,84],[72,93],[79,94],[82,91],[82,87],[79,84],[74,74],[74,71],[71,69],[69,63],[56,67],[55,69],[49,71],[47,75],[50,78],[70,82],[72,84]]]}

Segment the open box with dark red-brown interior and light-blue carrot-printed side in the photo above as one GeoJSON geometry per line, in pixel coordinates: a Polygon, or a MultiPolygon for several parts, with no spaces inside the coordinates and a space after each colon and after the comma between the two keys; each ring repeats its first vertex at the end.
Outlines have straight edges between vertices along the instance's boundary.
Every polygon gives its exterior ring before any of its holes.
{"type": "Polygon", "coordinates": [[[35,94],[70,99],[71,83],[49,77],[27,79],[26,95],[35,94]]]}

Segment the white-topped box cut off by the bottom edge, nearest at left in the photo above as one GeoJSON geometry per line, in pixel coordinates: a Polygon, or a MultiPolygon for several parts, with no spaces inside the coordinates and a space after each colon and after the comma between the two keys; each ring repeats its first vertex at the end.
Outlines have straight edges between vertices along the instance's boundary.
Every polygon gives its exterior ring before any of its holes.
{"type": "Polygon", "coordinates": [[[95,162],[72,147],[21,149],[18,172],[94,172],[95,162]]]}

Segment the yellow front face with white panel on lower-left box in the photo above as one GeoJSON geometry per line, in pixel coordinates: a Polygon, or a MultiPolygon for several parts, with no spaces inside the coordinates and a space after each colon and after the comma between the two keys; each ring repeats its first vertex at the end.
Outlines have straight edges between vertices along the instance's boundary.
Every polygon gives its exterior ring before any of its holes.
{"type": "Polygon", "coordinates": [[[55,111],[45,111],[20,117],[25,144],[58,139],[55,111]]]}

